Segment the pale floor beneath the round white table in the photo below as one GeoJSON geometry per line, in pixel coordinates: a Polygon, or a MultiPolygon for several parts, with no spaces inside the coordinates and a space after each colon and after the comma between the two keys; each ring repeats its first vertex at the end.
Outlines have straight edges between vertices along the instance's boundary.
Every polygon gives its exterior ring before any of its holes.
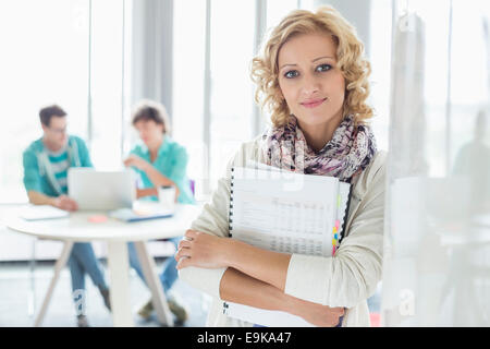
{"type": "MultiPolygon", "coordinates": [[[[157,261],[159,270],[162,261],[157,261]]],[[[0,264],[0,326],[33,326],[35,317],[33,309],[35,308],[37,314],[41,306],[44,296],[52,276],[53,264],[49,262],[36,264],[34,274],[34,304],[33,297],[30,296],[33,281],[29,270],[29,264],[25,262],[0,264]]],[[[106,273],[106,278],[109,280],[108,272],[106,273]]],[[[131,305],[135,325],[145,327],[160,326],[155,315],[150,321],[144,321],[136,314],[139,305],[149,299],[150,292],[133,270],[130,282],[131,305]]],[[[91,284],[88,277],[86,279],[86,287],[88,293],[86,311],[90,326],[112,326],[111,314],[105,308],[98,289],[91,284]]],[[[189,320],[184,326],[204,326],[206,323],[207,306],[210,303],[209,297],[180,280],[174,284],[173,292],[177,293],[191,309],[189,320]]],[[[75,308],[71,301],[70,270],[64,268],[54,289],[42,326],[72,327],[75,325],[75,308]]]]}

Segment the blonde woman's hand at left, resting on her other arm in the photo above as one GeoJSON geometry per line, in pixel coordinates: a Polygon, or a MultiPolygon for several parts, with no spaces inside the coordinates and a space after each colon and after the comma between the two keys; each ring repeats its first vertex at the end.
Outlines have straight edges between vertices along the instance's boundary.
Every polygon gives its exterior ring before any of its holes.
{"type": "Polygon", "coordinates": [[[213,269],[229,266],[228,256],[233,253],[231,249],[231,239],[187,230],[175,253],[176,268],[197,266],[213,269]]]}

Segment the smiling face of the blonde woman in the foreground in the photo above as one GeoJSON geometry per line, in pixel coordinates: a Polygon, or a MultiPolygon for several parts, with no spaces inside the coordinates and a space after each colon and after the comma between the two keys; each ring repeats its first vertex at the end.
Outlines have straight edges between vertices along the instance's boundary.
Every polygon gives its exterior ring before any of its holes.
{"type": "Polygon", "coordinates": [[[279,87],[299,125],[340,124],[345,80],[336,68],[336,44],[329,34],[301,34],[278,56],[279,87]]]}

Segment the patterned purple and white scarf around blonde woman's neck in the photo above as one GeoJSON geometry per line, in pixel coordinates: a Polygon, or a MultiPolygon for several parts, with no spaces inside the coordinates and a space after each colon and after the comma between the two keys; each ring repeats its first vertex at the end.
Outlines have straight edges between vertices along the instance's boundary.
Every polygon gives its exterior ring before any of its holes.
{"type": "Polygon", "coordinates": [[[286,125],[271,128],[262,135],[268,165],[295,172],[336,177],[351,182],[376,154],[376,141],[367,125],[354,127],[346,116],[323,148],[316,153],[306,143],[295,117],[286,125]]]}

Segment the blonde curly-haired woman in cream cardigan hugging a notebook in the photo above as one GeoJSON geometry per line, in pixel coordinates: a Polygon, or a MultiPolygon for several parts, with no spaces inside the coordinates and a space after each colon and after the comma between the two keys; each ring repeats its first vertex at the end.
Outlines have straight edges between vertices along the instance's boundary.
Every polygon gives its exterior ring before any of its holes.
{"type": "Polygon", "coordinates": [[[385,154],[366,122],[369,73],[355,29],[328,7],[290,13],[253,60],[256,97],[272,127],[242,146],[175,254],[180,277],[215,299],[208,325],[254,325],[224,315],[225,300],[317,326],[369,326],[367,299],[381,277],[385,172],[385,154]],[[230,169],[248,159],[352,183],[345,237],[332,257],[226,239],[230,169]]]}

